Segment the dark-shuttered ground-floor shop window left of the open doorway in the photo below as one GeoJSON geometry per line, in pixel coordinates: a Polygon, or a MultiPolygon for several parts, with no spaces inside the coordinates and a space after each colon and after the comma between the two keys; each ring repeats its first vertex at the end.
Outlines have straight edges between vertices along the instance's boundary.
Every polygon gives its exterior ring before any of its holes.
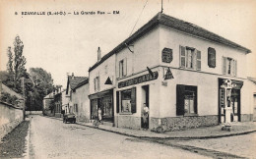
{"type": "Polygon", "coordinates": [[[136,88],[123,90],[116,93],[117,113],[136,113],[136,88]]]}

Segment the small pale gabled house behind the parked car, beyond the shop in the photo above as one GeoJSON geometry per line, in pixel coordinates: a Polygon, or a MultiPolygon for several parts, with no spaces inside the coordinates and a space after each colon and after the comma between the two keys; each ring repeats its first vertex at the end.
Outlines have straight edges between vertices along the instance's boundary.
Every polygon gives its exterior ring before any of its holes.
{"type": "Polygon", "coordinates": [[[66,98],[68,104],[62,106],[65,113],[74,113],[78,121],[89,122],[90,120],[90,101],[89,78],[68,76],[66,98]]]}

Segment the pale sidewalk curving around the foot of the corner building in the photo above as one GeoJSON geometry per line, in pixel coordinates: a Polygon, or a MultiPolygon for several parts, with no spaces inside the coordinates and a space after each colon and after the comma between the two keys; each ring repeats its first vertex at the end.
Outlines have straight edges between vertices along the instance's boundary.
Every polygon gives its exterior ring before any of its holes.
{"type": "MultiPolygon", "coordinates": [[[[45,117],[45,116],[44,116],[45,117]]],[[[55,118],[55,117],[49,117],[55,118]]],[[[61,118],[55,118],[62,121],[61,118]]],[[[231,131],[222,131],[222,125],[213,127],[202,127],[197,129],[190,129],[186,131],[175,131],[175,132],[150,132],[142,130],[129,130],[116,127],[110,127],[105,125],[99,125],[98,128],[93,127],[92,123],[77,122],[78,125],[106,131],[115,132],[139,138],[155,138],[155,139],[203,139],[203,138],[218,138],[224,136],[246,134],[250,132],[256,132],[256,122],[242,122],[232,123],[231,131]]]]}

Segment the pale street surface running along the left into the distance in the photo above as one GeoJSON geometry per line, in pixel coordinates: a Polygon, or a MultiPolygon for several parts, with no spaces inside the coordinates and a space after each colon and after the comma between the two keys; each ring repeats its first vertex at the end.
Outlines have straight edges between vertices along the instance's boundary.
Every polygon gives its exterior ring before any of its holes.
{"type": "Polygon", "coordinates": [[[31,158],[206,158],[134,137],[31,117],[31,158]]]}

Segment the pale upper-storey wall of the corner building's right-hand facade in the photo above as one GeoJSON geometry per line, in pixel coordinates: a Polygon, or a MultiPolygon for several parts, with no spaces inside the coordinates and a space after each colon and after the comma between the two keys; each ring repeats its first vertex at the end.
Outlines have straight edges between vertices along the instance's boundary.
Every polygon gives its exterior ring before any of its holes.
{"type": "MultiPolygon", "coordinates": [[[[223,75],[223,56],[237,60],[237,76],[236,78],[247,79],[246,77],[246,56],[245,52],[224,46],[222,44],[210,42],[208,40],[184,34],[171,30],[166,27],[160,27],[160,65],[167,67],[179,68],[179,45],[189,46],[201,51],[201,71],[205,73],[223,75]],[[173,52],[173,60],[170,64],[161,62],[161,50],[170,48],[173,52]],[[212,47],[216,50],[216,68],[208,66],[208,48],[212,47]]],[[[226,76],[228,77],[228,76],[226,76]]]]}

